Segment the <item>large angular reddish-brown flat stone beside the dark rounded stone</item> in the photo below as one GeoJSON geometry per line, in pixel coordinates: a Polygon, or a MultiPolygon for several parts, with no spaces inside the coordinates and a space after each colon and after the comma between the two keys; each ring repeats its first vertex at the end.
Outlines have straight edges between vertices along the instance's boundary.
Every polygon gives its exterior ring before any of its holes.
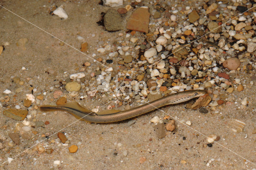
{"type": "Polygon", "coordinates": [[[127,21],[126,28],[128,30],[148,33],[149,17],[148,7],[140,7],[132,13],[127,21]]]}

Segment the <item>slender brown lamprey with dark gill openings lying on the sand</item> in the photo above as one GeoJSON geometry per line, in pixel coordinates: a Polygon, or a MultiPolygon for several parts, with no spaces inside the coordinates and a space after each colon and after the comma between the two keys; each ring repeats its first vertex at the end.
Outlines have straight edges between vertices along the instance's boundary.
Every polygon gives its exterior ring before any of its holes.
{"type": "Polygon", "coordinates": [[[53,111],[53,110],[61,110],[65,112],[71,113],[73,116],[86,122],[94,122],[94,123],[110,123],[110,122],[118,122],[121,120],[126,120],[129,118],[133,118],[139,116],[141,114],[150,112],[155,110],[156,108],[160,108],[162,106],[170,105],[170,104],[178,104],[182,102],[186,102],[193,98],[198,98],[208,94],[205,90],[188,90],[184,92],[177,92],[174,94],[170,94],[163,98],[159,98],[152,102],[143,104],[136,108],[132,108],[129,110],[104,110],[99,113],[92,112],[86,108],[80,106],[77,102],[66,103],[62,106],[40,106],[42,111],[53,111]]]}

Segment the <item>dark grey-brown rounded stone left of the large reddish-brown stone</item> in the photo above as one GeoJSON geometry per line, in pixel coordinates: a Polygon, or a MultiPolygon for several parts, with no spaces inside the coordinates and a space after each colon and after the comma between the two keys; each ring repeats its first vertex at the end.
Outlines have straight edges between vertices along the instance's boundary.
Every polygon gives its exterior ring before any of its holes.
{"type": "Polygon", "coordinates": [[[122,17],[114,9],[107,10],[103,19],[104,19],[104,26],[108,31],[118,31],[123,28],[122,17]]]}

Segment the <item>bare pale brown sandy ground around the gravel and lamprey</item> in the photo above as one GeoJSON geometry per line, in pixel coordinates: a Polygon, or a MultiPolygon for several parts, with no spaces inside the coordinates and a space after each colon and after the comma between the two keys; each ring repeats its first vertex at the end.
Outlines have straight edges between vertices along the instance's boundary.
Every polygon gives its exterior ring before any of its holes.
{"type": "MultiPolygon", "coordinates": [[[[64,42],[79,49],[81,41],[77,36],[84,37],[88,42],[88,55],[92,56],[96,52],[98,41],[114,42],[119,32],[107,32],[96,22],[100,19],[100,13],[106,12],[109,7],[101,6],[96,1],[0,1],[0,4],[8,8],[15,14],[35,24],[39,28],[49,32],[64,42]],[[61,20],[58,16],[48,14],[48,9],[53,5],[64,5],[68,14],[67,20],[61,20]],[[45,7],[44,7],[45,5],[45,7]],[[95,34],[95,37],[92,37],[95,34]]],[[[37,92],[47,92],[41,104],[54,104],[52,95],[54,90],[58,90],[58,80],[63,80],[64,72],[68,75],[78,72],[78,68],[85,61],[92,63],[91,68],[95,70],[98,63],[67,45],[60,46],[60,41],[36,28],[32,24],[22,20],[18,16],[0,8],[0,44],[9,42],[5,46],[4,52],[0,56],[0,92],[13,85],[11,76],[18,76],[25,81],[23,90],[10,95],[8,106],[14,107],[16,104],[23,106],[22,101],[25,94],[31,93],[30,85],[37,89],[37,92]],[[16,46],[20,38],[27,38],[26,50],[21,50],[16,46]],[[22,67],[26,70],[21,70],[22,67]],[[54,74],[48,74],[48,69],[55,70],[54,74]],[[30,78],[30,80],[27,80],[30,78]],[[57,81],[56,81],[57,80],[57,81]],[[56,87],[55,87],[56,86],[56,87]],[[51,90],[50,87],[54,87],[51,90]],[[16,102],[13,99],[16,98],[16,102]]],[[[124,31],[120,31],[124,32],[124,31]]],[[[104,58],[104,55],[100,57],[104,58]]],[[[101,66],[100,66],[101,67],[101,66]]],[[[254,72],[255,73],[255,72],[254,72]]],[[[250,77],[254,74],[240,74],[238,78],[245,80],[244,84],[249,84],[250,77]]],[[[0,166],[4,170],[12,169],[241,169],[247,170],[256,168],[255,142],[256,135],[252,134],[255,127],[255,112],[252,112],[255,102],[255,86],[246,86],[242,92],[233,92],[228,97],[233,98],[232,106],[218,108],[220,113],[209,110],[208,114],[202,114],[199,110],[185,108],[185,104],[166,106],[161,108],[164,112],[177,116],[178,120],[190,120],[191,128],[176,121],[177,128],[174,132],[168,132],[162,139],[156,138],[154,125],[150,123],[153,116],[164,117],[164,113],[155,110],[148,114],[138,116],[136,123],[127,126],[128,120],[112,124],[86,124],[76,121],[76,118],[64,112],[48,112],[38,114],[33,118],[36,121],[49,121],[50,124],[33,129],[38,133],[30,133],[29,138],[21,138],[20,145],[6,146],[8,149],[0,150],[0,164],[8,157],[14,157],[36,144],[36,141],[44,140],[42,134],[50,136],[58,130],[65,128],[72,122],[74,124],[63,129],[68,137],[68,146],[59,144],[49,144],[54,149],[52,154],[46,152],[39,154],[33,148],[17,156],[11,163],[6,162],[0,166]],[[248,97],[248,106],[240,108],[241,100],[248,97]],[[244,132],[234,133],[227,127],[228,122],[234,118],[246,123],[244,132]],[[195,131],[196,130],[196,131],[195,131]],[[220,136],[219,144],[213,144],[210,148],[206,146],[206,136],[216,134],[220,136]],[[247,136],[247,138],[245,138],[247,136]],[[186,137],[186,140],[183,140],[186,137]],[[150,140],[152,139],[152,140],[150,140]],[[71,154],[68,147],[71,144],[78,145],[78,151],[71,154]],[[123,152],[128,152],[126,156],[123,152]],[[254,164],[246,161],[253,162],[254,164]],[[146,161],[140,163],[140,158],[145,157],[146,161]],[[213,159],[214,160],[213,160],[213,159]],[[210,166],[206,164],[209,160],[210,166]],[[53,167],[53,161],[60,160],[58,167],[53,167]],[[181,161],[185,160],[186,164],[181,161]]],[[[1,96],[6,96],[1,94],[1,96]]],[[[92,99],[82,100],[80,103],[89,109],[94,106],[102,106],[106,102],[100,100],[100,96],[92,99]]],[[[76,100],[78,98],[68,98],[76,100]]],[[[193,102],[193,101],[190,101],[193,102]]],[[[3,105],[4,103],[2,103],[3,105]]],[[[136,104],[135,104],[136,105],[136,104]]],[[[33,107],[33,106],[32,106],[33,107]]],[[[104,109],[106,106],[104,106],[104,109]]],[[[0,114],[0,133],[8,137],[8,132],[15,129],[16,120],[12,120],[0,114]]],[[[122,108],[124,109],[124,108],[122,108]]],[[[21,124],[21,122],[19,122],[21,124]]],[[[58,141],[57,135],[53,135],[50,140],[58,141]]],[[[8,142],[6,142],[8,143],[8,142]]],[[[44,144],[45,142],[42,142],[44,144]]]]}

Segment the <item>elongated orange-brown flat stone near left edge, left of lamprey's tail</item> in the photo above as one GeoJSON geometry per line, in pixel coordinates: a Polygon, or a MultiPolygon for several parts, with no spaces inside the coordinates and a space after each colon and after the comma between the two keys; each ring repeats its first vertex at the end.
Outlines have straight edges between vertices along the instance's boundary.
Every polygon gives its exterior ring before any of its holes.
{"type": "Polygon", "coordinates": [[[6,110],[4,110],[3,114],[4,114],[4,116],[7,116],[14,120],[24,120],[28,114],[28,110],[6,109],[6,110]]]}

